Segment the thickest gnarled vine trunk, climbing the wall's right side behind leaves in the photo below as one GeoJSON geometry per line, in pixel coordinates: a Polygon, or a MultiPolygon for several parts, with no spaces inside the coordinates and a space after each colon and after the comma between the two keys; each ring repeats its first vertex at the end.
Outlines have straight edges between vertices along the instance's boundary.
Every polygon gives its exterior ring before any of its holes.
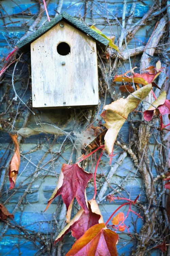
{"type": "MultiPolygon", "coordinates": [[[[160,19],[159,24],[157,25],[155,31],[152,34],[152,37],[149,40],[149,43],[147,44],[144,53],[141,57],[141,63],[140,63],[140,71],[143,72],[150,64],[150,57],[146,54],[153,56],[155,52],[155,47],[158,44],[160,38],[163,36],[163,33],[165,31],[167,20],[165,17],[160,19]]],[[[147,99],[149,102],[153,102],[152,95],[148,96],[147,99]]],[[[143,107],[146,109],[148,107],[147,103],[143,103],[143,107]]],[[[139,160],[142,158],[142,164],[139,167],[139,171],[141,173],[143,184],[145,185],[146,195],[148,198],[149,206],[149,215],[150,218],[148,221],[143,225],[138,239],[137,244],[137,250],[135,252],[135,255],[137,256],[143,256],[146,249],[149,248],[152,237],[157,232],[157,228],[159,225],[159,212],[160,210],[156,207],[150,207],[151,205],[157,205],[157,198],[156,198],[156,191],[153,184],[153,176],[150,170],[150,161],[148,157],[148,147],[149,147],[149,138],[151,136],[151,128],[148,125],[145,125],[143,123],[139,126],[139,132],[138,132],[138,141],[136,143],[136,151],[137,155],[139,157],[139,160]]]]}

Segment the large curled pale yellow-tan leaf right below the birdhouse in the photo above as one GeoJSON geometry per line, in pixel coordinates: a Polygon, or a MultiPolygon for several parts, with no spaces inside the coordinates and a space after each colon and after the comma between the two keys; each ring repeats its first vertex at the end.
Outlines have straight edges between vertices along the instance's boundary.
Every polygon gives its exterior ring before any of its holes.
{"type": "Polygon", "coordinates": [[[128,115],[133,111],[141,99],[144,99],[152,89],[152,84],[147,84],[139,90],[129,95],[127,98],[120,98],[109,105],[104,106],[105,111],[102,112],[101,117],[106,122],[104,125],[108,129],[105,134],[105,149],[108,154],[112,153],[112,149],[120,131],[120,128],[127,120],[128,115]],[[136,98],[138,97],[138,98],[136,98]],[[140,99],[139,99],[140,98],[140,99]]]}

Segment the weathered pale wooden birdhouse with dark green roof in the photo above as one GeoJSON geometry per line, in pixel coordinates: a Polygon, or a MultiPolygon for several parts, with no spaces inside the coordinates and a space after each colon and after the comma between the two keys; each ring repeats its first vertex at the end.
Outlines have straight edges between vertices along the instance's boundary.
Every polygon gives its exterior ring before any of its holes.
{"type": "Polygon", "coordinates": [[[35,108],[98,105],[97,48],[108,40],[63,12],[18,43],[31,48],[35,108]]]}

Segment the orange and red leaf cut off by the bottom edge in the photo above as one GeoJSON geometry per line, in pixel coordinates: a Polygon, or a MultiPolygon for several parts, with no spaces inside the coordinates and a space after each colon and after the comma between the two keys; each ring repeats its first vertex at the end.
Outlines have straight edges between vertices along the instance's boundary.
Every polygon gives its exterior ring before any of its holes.
{"type": "Polygon", "coordinates": [[[104,223],[89,228],[77,240],[66,256],[117,256],[118,235],[104,223]]]}

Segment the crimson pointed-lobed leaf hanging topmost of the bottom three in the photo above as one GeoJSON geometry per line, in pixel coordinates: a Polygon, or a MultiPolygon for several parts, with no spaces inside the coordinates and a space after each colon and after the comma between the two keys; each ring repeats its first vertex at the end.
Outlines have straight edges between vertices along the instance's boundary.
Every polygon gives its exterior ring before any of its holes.
{"type": "Polygon", "coordinates": [[[93,177],[91,173],[85,172],[78,164],[63,164],[60,176],[58,178],[57,186],[48,201],[49,207],[55,197],[62,195],[62,199],[66,204],[67,215],[66,222],[70,221],[72,204],[74,197],[77,199],[80,206],[85,213],[88,213],[87,199],[85,194],[85,188],[88,181],[93,177]]]}

